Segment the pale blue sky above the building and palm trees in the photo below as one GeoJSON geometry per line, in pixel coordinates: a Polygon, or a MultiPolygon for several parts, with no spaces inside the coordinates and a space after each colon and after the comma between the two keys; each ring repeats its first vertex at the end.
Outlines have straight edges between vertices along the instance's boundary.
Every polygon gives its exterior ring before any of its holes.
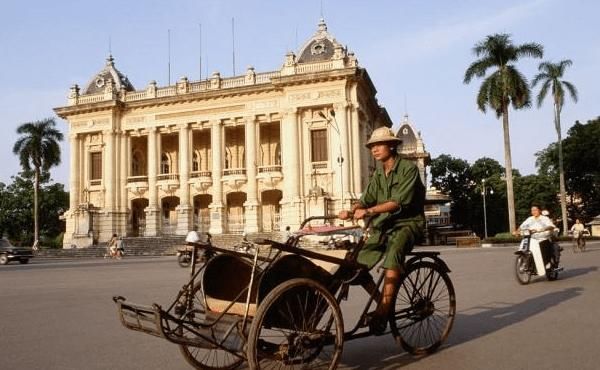
{"type": "MultiPolygon", "coordinates": [[[[573,60],[565,79],[580,99],[563,109],[563,134],[575,120],[600,115],[600,5],[592,0],[6,0],[0,3],[0,182],[20,170],[12,154],[17,126],[66,105],[69,86],[85,85],[102,69],[109,39],[117,68],[137,89],[150,80],[163,86],[167,30],[171,81],[184,75],[197,80],[202,24],[202,75],[218,70],[230,76],[234,17],[237,74],[248,65],[271,71],[314,33],[321,8],[329,31],[368,70],[379,102],[396,123],[408,112],[432,157],[446,153],[472,163],[486,156],[504,163],[501,124],[475,105],[480,81],[462,83],[474,60],[471,48],[492,33],[510,33],[518,44],[541,43],[544,60],[573,60]]],[[[531,79],[538,63],[523,60],[519,68],[531,79]]],[[[513,167],[535,173],[534,153],[556,140],[550,102],[511,112],[510,119],[513,167]]],[[[67,127],[58,124],[66,140],[53,178],[68,186],[67,127]]]]}

